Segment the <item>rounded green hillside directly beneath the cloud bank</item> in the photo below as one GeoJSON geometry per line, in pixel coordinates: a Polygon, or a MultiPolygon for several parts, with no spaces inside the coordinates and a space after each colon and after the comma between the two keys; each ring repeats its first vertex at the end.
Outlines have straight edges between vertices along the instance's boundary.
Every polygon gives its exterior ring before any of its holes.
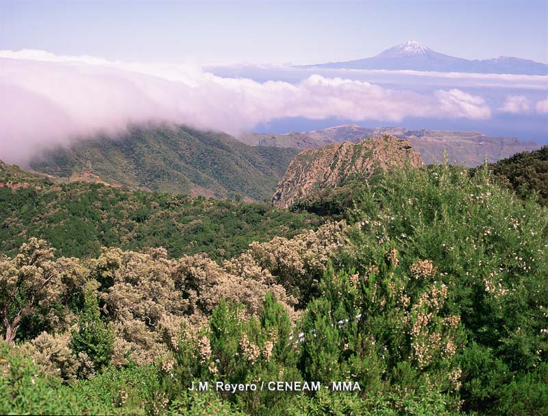
{"type": "Polygon", "coordinates": [[[222,132],[162,125],[50,149],[30,166],[72,180],[262,201],[272,195],[295,154],[294,149],[250,147],[222,132]]]}

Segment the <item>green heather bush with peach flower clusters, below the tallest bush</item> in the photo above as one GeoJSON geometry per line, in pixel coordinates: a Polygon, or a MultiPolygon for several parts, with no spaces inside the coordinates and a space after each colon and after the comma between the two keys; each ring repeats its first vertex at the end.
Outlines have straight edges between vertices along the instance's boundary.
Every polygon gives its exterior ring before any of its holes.
{"type": "MultiPolygon", "coordinates": [[[[393,400],[458,389],[454,354],[464,336],[444,311],[445,288],[413,289],[396,262],[385,266],[380,258],[381,267],[363,277],[327,271],[322,295],[303,319],[301,369],[308,380],[359,382],[364,395],[393,400]]],[[[456,402],[446,401],[445,413],[458,409],[456,402]]]]}

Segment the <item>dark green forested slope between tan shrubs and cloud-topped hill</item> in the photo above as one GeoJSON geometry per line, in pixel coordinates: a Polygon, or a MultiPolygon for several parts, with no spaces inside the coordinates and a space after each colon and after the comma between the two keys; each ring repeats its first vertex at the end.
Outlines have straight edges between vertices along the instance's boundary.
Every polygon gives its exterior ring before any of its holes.
{"type": "Polygon", "coordinates": [[[206,252],[219,260],[252,241],[317,228],[314,215],[270,204],[129,191],[103,184],[55,184],[0,165],[0,251],[14,254],[27,238],[45,238],[59,256],[98,256],[102,246],[162,246],[171,257],[206,252]]]}

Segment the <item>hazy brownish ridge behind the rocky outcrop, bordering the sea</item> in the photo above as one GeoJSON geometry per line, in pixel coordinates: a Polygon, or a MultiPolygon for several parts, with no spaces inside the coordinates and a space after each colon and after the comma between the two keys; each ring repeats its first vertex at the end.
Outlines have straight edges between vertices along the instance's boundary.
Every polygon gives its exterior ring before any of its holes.
{"type": "Polygon", "coordinates": [[[238,137],[238,140],[255,146],[308,149],[346,140],[358,143],[364,138],[382,136],[382,134],[391,134],[397,138],[409,140],[425,163],[431,163],[432,160],[438,163],[443,162],[443,153],[447,149],[450,163],[464,163],[468,167],[482,164],[485,156],[488,162],[496,162],[521,151],[532,151],[540,147],[533,141],[524,142],[515,137],[491,137],[478,132],[410,130],[403,127],[360,127],[359,125],[339,125],[312,132],[288,134],[245,133],[238,137]]]}

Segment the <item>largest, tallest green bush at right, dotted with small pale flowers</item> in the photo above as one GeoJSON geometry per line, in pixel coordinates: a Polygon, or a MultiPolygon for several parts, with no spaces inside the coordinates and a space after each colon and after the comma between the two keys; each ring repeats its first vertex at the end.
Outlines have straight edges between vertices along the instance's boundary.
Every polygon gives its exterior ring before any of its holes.
{"type": "Polygon", "coordinates": [[[417,260],[430,260],[447,286],[442,311],[460,316],[471,341],[461,352],[464,407],[502,411],[510,382],[548,359],[547,210],[493,185],[485,169],[471,178],[447,165],[388,175],[366,197],[340,263],[362,275],[392,247],[413,299],[428,282],[417,260]]]}

